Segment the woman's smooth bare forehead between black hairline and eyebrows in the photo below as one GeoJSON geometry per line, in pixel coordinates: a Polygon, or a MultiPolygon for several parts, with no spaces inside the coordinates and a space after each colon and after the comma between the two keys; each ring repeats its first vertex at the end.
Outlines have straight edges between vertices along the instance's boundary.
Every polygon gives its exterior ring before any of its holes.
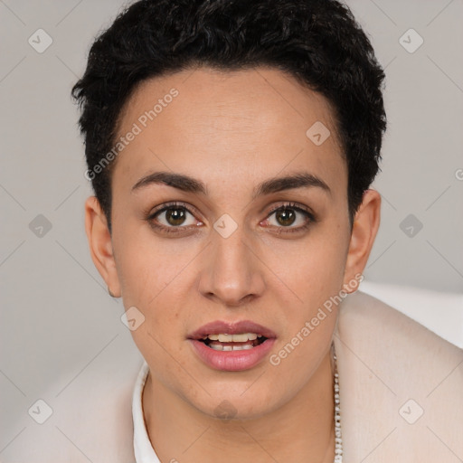
{"type": "Polygon", "coordinates": [[[118,137],[129,132],[137,135],[118,155],[114,176],[131,184],[155,170],[255,184],[304,169],[346,185],[328,102],[271,68],[199,68],[145,80],[121,111],[118,137]],[[318,134],[329,136],[320,144],[318,134]]]}

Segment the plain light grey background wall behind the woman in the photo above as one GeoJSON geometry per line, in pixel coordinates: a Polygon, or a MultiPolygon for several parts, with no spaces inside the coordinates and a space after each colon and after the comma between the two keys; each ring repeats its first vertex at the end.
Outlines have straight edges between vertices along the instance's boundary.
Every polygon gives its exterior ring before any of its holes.
{"type": "MultiPolygon", "coordinates": [[[[373,184],[383,215],[365,278],[463,293],[463,2],[347,3],[387,74],[389,128],[373,184]],[[412,53],[399,42],[410,28],[424,40],[412,53]]],[[[27,432],[10,418],[50,384],[60,392],[102,352],[137,355],[122,303],[90,260],[83,203],[91,192],[70,98],[92,38],[121,5],[0,0],[0,458],[27,432]],[[43,53],[28,43],[39,28],[53,41],[43,53]],[[39,214],[52,225],[42,236],[30,228],[34,219],[43,225],[39,214]]]]}

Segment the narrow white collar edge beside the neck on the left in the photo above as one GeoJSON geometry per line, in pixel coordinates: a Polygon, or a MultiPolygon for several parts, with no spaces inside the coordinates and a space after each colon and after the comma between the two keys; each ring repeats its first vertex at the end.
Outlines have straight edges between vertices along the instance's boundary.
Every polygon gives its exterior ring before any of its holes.
{"type": "Polygon", "coordinates": [[[142,393],[149,372],[146,361],[138,373],[132,397],[132,419],[134,421],[134,452],[137,463],[161,463],[151,445],[143,416],[142,393]]]}

